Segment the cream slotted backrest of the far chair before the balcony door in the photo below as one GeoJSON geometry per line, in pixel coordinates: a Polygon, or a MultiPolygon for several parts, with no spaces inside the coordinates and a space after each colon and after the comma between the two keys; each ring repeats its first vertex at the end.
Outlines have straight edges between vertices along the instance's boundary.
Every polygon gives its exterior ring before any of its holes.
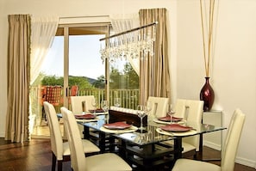
{"type": "Polygon", "coordinates": [[[91,104],[91,101],[94,100],[93,95],[84,95],[84,96],[71,96],[71,106],[72,106],[72,113],[78,114],[83,113],[83,105],[82,102],[85,101],[85,111],[94,109],[91,104]]]}

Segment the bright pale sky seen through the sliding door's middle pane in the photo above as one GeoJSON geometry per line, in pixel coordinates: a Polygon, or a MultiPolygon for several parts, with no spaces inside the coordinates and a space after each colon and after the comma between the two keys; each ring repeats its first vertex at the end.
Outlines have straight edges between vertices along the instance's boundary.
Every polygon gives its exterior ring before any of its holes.
{"type": "Polygon", "coordinates": [[[73,35],[69,40],[69,75],[97,79],[104,75],[99,40],[104,35],[73,35]]]}

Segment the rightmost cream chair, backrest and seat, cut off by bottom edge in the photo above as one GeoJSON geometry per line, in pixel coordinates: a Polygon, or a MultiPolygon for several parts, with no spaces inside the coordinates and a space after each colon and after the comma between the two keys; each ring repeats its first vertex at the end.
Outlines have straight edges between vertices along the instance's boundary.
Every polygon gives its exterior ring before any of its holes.
{"type": "Polygon", "coordinates": [[[245,119],[246,115],[242,113],[240,109],[235,109],[228,126],[228,134],[222,150],[221,166],[209,162],[178,159],[177,162],[175,162],[172,171],[233,171],[234,160],[245,119]]]}

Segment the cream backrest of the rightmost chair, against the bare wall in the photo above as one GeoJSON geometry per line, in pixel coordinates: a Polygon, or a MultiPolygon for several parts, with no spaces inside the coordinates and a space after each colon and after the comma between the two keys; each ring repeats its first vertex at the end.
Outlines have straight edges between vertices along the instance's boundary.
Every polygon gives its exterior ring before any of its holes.
{"type": "Polygon", "coordinates": [[[233,117],[228,126],[226,141],[222,150],[222,171],[234,170],[234,160],[245,119],[245,113],[242,113],[239,108],[234,110],[233,117]]]}

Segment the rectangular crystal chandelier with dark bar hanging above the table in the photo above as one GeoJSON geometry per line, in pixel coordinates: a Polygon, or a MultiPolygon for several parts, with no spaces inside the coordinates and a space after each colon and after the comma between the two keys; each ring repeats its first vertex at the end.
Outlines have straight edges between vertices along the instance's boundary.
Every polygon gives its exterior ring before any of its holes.
{"type": "Polygon", "coordinates": [[[115,62],[120,58],[147,58],[154,55],[154,41],[156,36],[155,21],[151,24],[136,27],[131,30],[103,38],[100,53],[103,61],[115,62]],[[103,48],[104,46],[104,48],[103,48]]]}

